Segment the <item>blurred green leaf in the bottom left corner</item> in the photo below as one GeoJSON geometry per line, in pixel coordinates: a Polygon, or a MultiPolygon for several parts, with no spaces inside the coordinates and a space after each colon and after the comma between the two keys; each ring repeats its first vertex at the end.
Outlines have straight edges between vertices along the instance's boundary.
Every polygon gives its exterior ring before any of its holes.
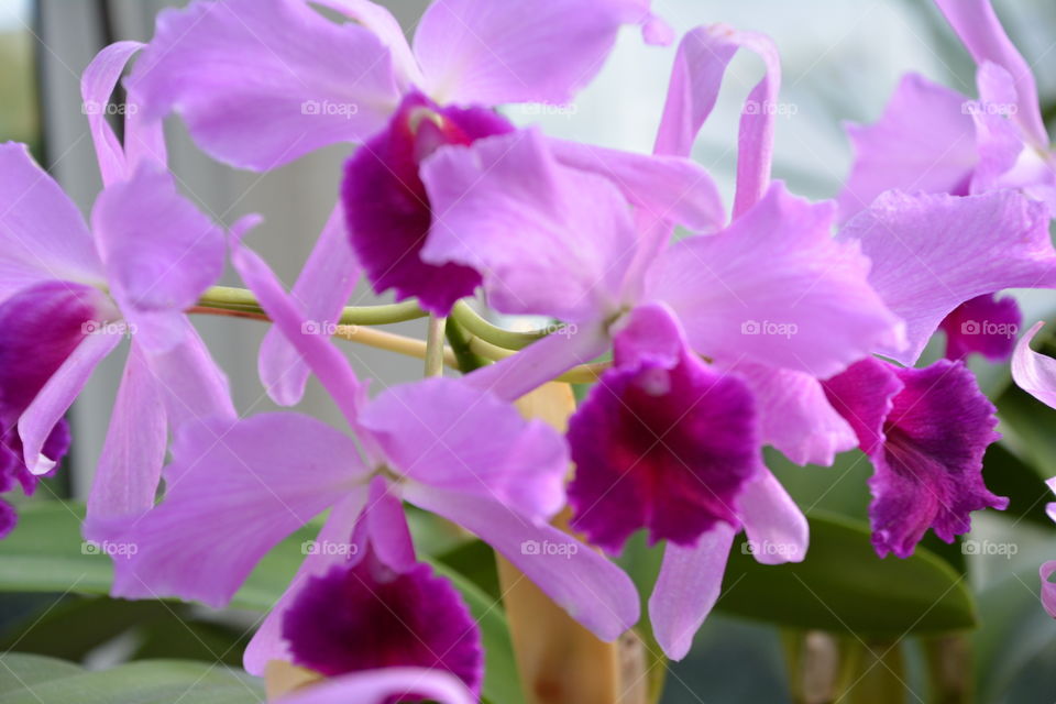
{"type": "Polygon", "coordinates": [[[205,662],[151,660],[88,672],[53,658],[8,653],[0,660],[0,704],[249,704],[260,682],[205,662]]]}

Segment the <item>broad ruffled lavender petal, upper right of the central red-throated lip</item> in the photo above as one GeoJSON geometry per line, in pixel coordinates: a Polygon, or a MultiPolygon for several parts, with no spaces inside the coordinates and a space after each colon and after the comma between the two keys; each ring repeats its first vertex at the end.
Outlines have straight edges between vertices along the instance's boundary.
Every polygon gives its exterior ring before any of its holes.
{"type": "Polygon", "coordinates": [[[835,208],[774,184],[718,234],[688,238],[650,272],[650,296],[673,308],[693,348],[721,365],[754,362],[824,377],[901,323],[867,283],[869,260],[832,238],[835,208]]]}

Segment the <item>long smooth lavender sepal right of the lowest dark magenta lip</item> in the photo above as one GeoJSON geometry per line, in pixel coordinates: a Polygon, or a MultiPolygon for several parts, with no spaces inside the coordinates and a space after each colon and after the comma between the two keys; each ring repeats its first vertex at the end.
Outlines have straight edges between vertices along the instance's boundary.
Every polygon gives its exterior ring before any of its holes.
{"type": "Polygon", "coordinates": [[[404,496],[476,534],[602,640],[615,640],[638,620],[630,578],[575,538],[469,494],[409,485],[404,496]]]}

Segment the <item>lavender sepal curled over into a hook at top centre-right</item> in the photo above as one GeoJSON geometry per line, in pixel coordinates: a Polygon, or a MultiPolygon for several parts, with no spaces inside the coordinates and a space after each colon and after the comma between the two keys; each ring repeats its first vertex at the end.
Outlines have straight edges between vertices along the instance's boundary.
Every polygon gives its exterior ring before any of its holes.
{"type": "Polygon", "coordinates": [[[724,24],[690,31],[679,45],[656,144],[657,154],[690,155],[697,133],[715,107],[726,67],[741,47],[758,54],[767,72],[748,95],[741,112],[735,218],[761,199],[770,186],[781,87],[781,63],[770,37],[738,32],[724,24]]]}

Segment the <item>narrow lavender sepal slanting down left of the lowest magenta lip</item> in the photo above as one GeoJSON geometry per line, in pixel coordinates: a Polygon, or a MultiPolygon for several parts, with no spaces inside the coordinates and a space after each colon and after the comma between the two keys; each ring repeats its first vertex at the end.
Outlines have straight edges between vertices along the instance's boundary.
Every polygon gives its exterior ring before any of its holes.
{"type": "Polygon", "coordinates": [[[290,659],[289,644],[283,638],[283,617],[300,586],[310,578],[324,574],[333,565],[362,559],[360,546],[353,541],[352,535],[365,505],[366,487],[353,488],[330,512],[316,540],[304,546],[308,548],[305,550],[308,556],[300,563],[297,575],[245,647],[242,661],[250,674],[264,676],[268,662],[290,659]]]}

